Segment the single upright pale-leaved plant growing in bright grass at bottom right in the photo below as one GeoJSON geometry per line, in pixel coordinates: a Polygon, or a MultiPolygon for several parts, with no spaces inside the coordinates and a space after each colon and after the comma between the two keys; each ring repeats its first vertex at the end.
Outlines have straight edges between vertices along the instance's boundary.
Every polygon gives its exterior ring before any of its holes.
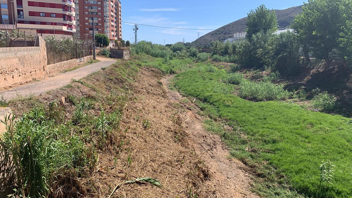
{"type": "Polygon", "coordinates": [[[318,197],[320,197],[323,190],[329,187],[329,185],[333,185],[334,180],[334,172],[336,167],[333,163],[329,160],[320,162],[319,170],[320,170],[320,181],[319,181],[319,192],[318,197]]]}

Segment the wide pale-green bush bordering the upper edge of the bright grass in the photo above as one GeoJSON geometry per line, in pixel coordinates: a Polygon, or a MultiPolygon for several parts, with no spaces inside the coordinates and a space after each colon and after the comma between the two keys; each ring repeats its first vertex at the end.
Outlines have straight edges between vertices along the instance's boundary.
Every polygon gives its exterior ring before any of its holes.
{"type": "Polygon", "coordinates": [[[282,85],[276,85],[271,82],[253,82],[243,80],[240,83],[239,95],[241,98],[264,101],[288,99],[293,94],[283,88],[282,85]]]}

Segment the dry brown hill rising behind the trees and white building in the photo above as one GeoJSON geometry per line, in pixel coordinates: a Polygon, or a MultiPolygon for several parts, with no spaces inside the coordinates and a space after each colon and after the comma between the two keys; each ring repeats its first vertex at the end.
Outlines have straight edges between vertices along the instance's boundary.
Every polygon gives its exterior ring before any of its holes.
{"type": "MultiPolygon", "coordinates": [[[[274,10],[276,12],[277,21],[280,27],[289,26],[295,16],[302,12],[302,5],[290,7],[284,10],[274,10]]],[[[209,46],[210,41],[225,41],[228,38],[232,38],[234,33],[244,32],[246,29],[246,19],[242,18],[227,25],[220,27],[212,32],[207,33],[206,35],[196,39],[192,42],[193,46],[205,47],[209,46]]]]}

